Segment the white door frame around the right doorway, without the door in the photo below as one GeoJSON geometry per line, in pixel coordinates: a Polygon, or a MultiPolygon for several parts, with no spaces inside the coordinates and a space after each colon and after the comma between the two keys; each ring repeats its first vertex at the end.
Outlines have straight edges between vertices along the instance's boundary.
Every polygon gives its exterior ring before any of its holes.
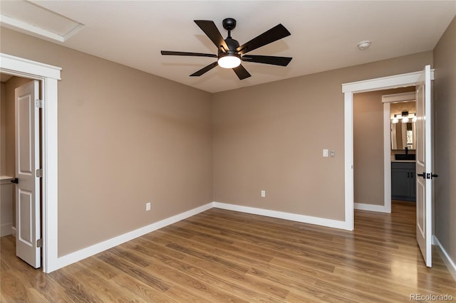
{"type": "MultiPolygon", "coordinates": [[[[353,201],[353,94],[357,92],[371,92],[373,90],[388,90],[397,87],[413,86],[418,83],[422,73],[420,70],[415,73],[405,73],[342,84],[345,124],[345,224],[347,230],[353,230],[355,225],[353,201]]],[[[434,70],[431,70],[431,79],[434,79],[434,70]]]]}

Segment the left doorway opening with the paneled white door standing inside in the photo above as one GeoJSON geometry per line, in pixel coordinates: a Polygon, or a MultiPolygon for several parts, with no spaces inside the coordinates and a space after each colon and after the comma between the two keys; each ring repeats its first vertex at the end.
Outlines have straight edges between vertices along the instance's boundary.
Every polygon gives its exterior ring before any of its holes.
{"type": "MultiPolygon", "coordinates": [[[[29,265],[41,267],[41,100],[40,82],[30,78],[0,74],[1,94],[1,176],[11,184],[2,189],[12,193],[2,196],[2,219],[11,222],[9,233],[16,238],[16,256],[29,265]],[[3,165],[4,164],[4,165],[3,165]],[[6,198],[6,199],[4,199],[6,198]],[[9,207],[8,207],[9,206],[9,207]],[[6,218],[4,209],[11,209],[6,218]]],[[[2,228],[3,229],[3,228],[2,228]]],[[[4,230],[2,230],[4,231],[4,230]]]]}

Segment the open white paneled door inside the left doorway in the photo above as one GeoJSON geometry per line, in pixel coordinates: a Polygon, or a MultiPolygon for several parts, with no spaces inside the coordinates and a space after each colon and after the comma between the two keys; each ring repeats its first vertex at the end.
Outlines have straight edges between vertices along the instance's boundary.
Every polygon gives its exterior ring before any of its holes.
{"type": "Polygon", "coordinates": [[[41,267],[39,82],[16,88],[16,255],[41,267]]]}

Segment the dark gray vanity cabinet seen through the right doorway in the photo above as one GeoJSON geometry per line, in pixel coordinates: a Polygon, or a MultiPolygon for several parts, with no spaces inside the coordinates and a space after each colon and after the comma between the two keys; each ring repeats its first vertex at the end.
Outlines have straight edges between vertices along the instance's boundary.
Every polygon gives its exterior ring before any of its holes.
{"type": "Polygon", "coordinates": [[[391,199],[416,200],[415,162],[391,162],[391,199]]]}

